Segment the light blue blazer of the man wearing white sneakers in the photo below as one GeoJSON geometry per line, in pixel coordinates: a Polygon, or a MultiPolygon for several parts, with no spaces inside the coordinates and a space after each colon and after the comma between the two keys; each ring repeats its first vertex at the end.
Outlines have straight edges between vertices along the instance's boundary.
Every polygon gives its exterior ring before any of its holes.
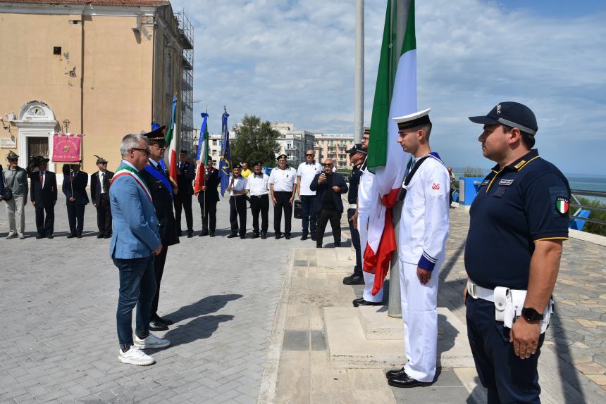
{"type": "MultiPolygon", "coordinates": [[[[118,170],[126,164],[123,162],[118,170]]],[[[113,232],[111,258],[144,258],[160,245],[154,204],[130,175],[117,177],[109,189],[113,232]]]]}

